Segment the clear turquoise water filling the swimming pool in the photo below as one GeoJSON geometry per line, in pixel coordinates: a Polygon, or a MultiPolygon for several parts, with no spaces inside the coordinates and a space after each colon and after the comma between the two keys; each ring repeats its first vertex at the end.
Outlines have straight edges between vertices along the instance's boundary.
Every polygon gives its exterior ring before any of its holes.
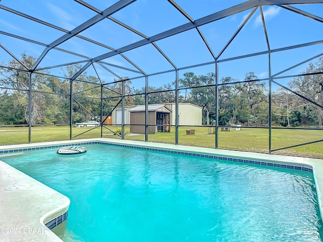
{"type": "Polygon", "coordinates": [[[64,241],[321,241],[309,172],[87,145],[0,160],[71,199],[64,241]]]}

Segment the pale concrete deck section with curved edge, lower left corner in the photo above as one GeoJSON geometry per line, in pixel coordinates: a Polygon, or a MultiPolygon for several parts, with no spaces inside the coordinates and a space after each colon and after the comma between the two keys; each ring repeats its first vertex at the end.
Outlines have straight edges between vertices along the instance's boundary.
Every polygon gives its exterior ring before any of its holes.
{"type": "Polygon", "coordinates": [[[45,224],[66,219],[70,199],[3,161],[0,204],[0,241],[62,241],[45,224]]]}

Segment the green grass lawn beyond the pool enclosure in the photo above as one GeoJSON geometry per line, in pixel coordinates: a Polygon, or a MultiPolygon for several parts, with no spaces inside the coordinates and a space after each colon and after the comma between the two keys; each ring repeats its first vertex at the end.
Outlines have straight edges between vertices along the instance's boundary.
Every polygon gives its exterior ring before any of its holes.
{"type": "MultiPolygon", "coordinates": [[[[118,126],[108,126],[111,130],[116,130],[118,126]]],[[[73,127],[73,136],[81,134],[92,128],[73,127]]],[[[32,143],[69,140],[69,126],[35,126],[32,127],[32,143]]],[[[126,140],[144,141],[144,134],[130,134],[130,127],[125,127],[126,140]]],[[[120,139],[110,130],[102,129],[104,138],[120,139]]],[[[73,139],[98,138],[100,137],[100,127],[73,139]]],[[[296,145],[321,139],[323,131],[320,130],[272,130],[272,149],[296,145]]],[[[243,150],[268,153],[268,130],[267,129],[244,129],[232,132],[219,131],[219,148],[231,150],[243,150]]],[[[170,133],[148,134],[149,142],[175,144],[175,127],[170,133]]],[[[0,145],[24,144],[28,143],[28,127],[0,128],[0,145]]],[[[215,135],[208,134],[205,127],[180,127],[179,144],[215,147],[215,135]],[[195,135],[186,135],[186,130],[194,129],[195,135]]],[[[286,150],[274,152],[276,154],[288,154],[296,156],[308,156],[323,158],[323,143],[315,143],[286,150]]]]}

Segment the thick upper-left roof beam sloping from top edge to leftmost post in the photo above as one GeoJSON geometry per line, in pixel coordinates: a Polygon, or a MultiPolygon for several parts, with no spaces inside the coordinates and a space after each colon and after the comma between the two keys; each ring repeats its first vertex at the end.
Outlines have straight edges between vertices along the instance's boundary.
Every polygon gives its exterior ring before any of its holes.
{"type": "Polygon", "coordinates": [[[67,33],[64,36],[62,36],[61,38],[58,38],[57,40],[53,41],[52,43],[50,43],[48,45],[48,47],[45,48],[45,50],[39,56],[39,58],[37,59],[37,61],[35,62],[34,66],[32,67],[31,70],[33,71],[33,70],[35,70],[37,68],[39,63],[42,61],[42,59],[45,57],[45,55],[47,54],[47,52],[50,49],[56,47],[57,45],[59,45],[59,44],[61,44],[63,42],[65,42],[66,40],[72,38],[73,36],[77,35],[78,33],[86,30],[87,28],[89,28],[92,25],[98,23],[102,19],[104,19],[104,18],[118,12],[119,10],[127,7],[129,4],[131,4],[131,3],[135,2],[135,1],[136,0],[120,0],[116,4],[112,5],[111,7],[107,8],[106,10],[104,10],[102,12],[102,14],[97,14],[93,18],[89,19],[88,21],[84,22],[83,24],[81,24],[78,27],[76,27],[75,29],[73,29],[70,33],[67,33]]]}

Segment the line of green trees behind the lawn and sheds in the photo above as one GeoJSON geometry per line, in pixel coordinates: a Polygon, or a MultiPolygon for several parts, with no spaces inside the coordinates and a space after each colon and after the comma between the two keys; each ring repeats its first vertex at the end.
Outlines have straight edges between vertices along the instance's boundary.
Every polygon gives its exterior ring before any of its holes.
{"type": "MultiPolygon", "coordinates": [[[[31,68],[36,61],[22,54],[21,61],[31,68]]],[[[65,78],[48,75],[42,70],[32,74],[31,120],[28,115],[29,78],[15,59],[9,68],[0,68],[0,125],[69,124],[70,80],[80,65],[71,65],[63,72],[65,78]]],[[[279,88],[272,92],[272,124],[284,127],[322,125],[323,110],[323,58],[310,63],[299,75],[286,84],[295,93],[279,88]],[[316,73],[315,75],[307,75],[316,73]],[[297,95],[297,94],[299,95],[297,95]],[[305,97],[305,98],[304,98],[305,97]],[[312,102],[311,102],[311,101],[312,102]],[[317,103],[315,105],[313,102],[317,103]]],[[[145,104],[145,88],[137,89],[125,78],[125,105],[145,104]]],[[[180,102],[202,107],[204,125],[216,120],[215,74],[195,75],[187,72],[179,79],[180,102]]],[[[92,115],[108,115],[120,104],[122,82],[101,86],[97,77],[83,72],[73,82],[73,122],[82,122],[92,115]],[[87,110],[87,111],[86,111],[87,110]]],[[[149,79],[148,79],[149,81],[149,79]]],[[[277,81],[279,82],[279,81],[277,81]]],[[[219,80],[219,125],[268,126],[268,81],[259,81],[253,72],[243,80],[226,77],[219,80]]],[[[175,80],[159,87],[148,87],[148,103],[175,102],[175,80]]]]}

